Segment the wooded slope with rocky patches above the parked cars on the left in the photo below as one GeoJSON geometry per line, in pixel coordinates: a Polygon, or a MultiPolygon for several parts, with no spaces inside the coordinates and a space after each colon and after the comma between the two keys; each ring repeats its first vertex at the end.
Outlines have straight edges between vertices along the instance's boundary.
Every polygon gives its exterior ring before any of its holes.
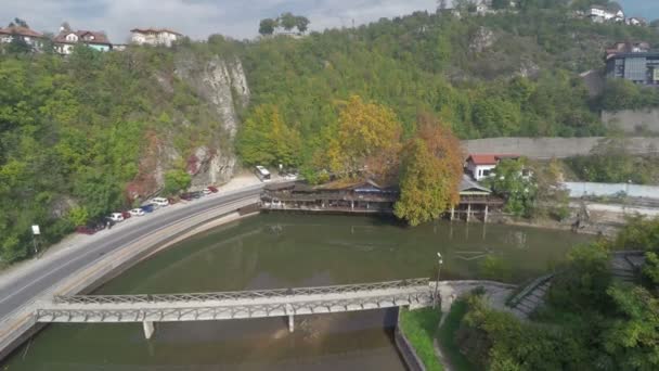
{"type": "Polygon", "coordinates": [[[193,78],[214,76],[212,50],[1,55],[1,260],[27,256],[30,225],[47,244],[157,190],[209,179],[209,153],[230,177],[230,128],[193,78]]]}

